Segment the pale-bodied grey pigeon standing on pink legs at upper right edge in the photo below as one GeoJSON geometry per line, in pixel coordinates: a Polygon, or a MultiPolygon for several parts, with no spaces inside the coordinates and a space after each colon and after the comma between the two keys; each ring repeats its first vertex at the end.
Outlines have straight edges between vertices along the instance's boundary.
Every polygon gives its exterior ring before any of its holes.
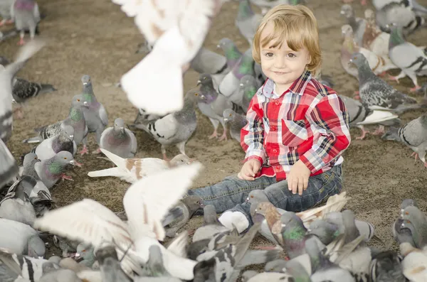
{"type": "Polygon", "coordinates": [[[389,56],[393,63],[401,68],[401,73],[391,79],[399,82],[399,78],[406,75],[411,78],[415,87],[411,91],[421,88],[416,76],[427,75],[427,55],[412,43],[406,42],[399,26],[391,26],[389,41],[389,56]]]}

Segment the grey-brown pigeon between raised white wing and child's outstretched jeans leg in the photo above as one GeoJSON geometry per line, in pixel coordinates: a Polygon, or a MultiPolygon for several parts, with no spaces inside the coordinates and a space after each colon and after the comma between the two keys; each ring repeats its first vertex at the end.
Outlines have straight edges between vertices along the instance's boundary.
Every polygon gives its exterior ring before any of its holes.
{"type": "Polygon", "coordinates": [[[175,205],[174,208],[181,210],[182,215],[165,226],[167,237],[176,236],[176,232],[181,229],[181,227],[184,227],[187,222],[189,222],[194,213],[197,212],[197,210],[200,208],[203,208],[203,200],[201,200],[201,197],[198,196],[184,197],[178,202],[178,204],[175,205]]]}

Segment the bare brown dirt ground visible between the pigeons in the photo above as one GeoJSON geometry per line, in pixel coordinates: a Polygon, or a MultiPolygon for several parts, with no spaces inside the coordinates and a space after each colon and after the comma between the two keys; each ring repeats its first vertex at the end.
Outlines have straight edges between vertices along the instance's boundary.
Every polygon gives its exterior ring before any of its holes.
{"type": "MultiPolygon", "coordinates": [[[[21,141],[34,135],[33,128],[67,116],[71,98],[81,91],[80,77],[83,74],[92,77],[95,94],[109,114],[110,126],[117,117],[122,117],[130,124],[137,114],[137,109],[127,101],[125,93],[115,87],[121,75],[144,56],[135,54],[143,37],[133,19],[127,18],[120,11],[120,6],[108,0],[38,2],[43,13],[46,13],[40,25],[41,34],[49,42],[28,62],[19,76],[51,83],[58,91],[32,99],[26,104],[24,119],[14,120],[13,136],[8,145],[16,158],[30,151],[31,146],[21,141]]],[[[419,2],[427,5],[427,0],[419,2]]],[[[357,80],[347,75],[339,63],[342,43],[340,27],[345,23],[339,15],[341,5],[339,0],[310,0],[307,4],[319,21],[323,50],[322,73],[332,75],[334,90],[339,94],[351,96],[357,90],[357,80]]],[[[233,39],[240,50],[248,48],[248,43],[234,26],[237,6],[237,1],[223,6],[206,38],[206,48],[216,50],[216,44],[223,37],[233,39]]],[[[354,1],[353,6],[357,16],[363,16],[364,7],[358,0],[354,1]]],[[[427,30],[424,29],[413,33],[408,40],[416,45],[427,45],[426,36],[427,30]]],[[[13,58],[18,40],[13,38],[1,43],[0,55],[13,58]]],[[[196,86],[197,77],[198,74],[192,70],[185,75],[186,90],[196,86]]],[[[418,83],[421,85],[425,81],[426,78],[421,77],[418,83]]],[[[401,80],[400,85],[393,85],[405,93],[413,87],[407,77],[401,80]]],[[[141,92],[144,94],[143,89],[141,92]]],[[[411,112],[401,118],[406,123],[420,115],[421,112],[411,112]]],[[[206,168],[194,183],[194,188],[214,184],[241,168],[240,161],[244,153],[239,144],[233,140],[209,140],[207,137],[211,130],[209,119],[198,114],[197,130],[186,144],[186,152],[191,158],[204,163],[206,168]]],[[[396,248],[391,237],[391,224],[399,215],[401,200],[411,197],[418,201],[422,210],[427,207],[426,168],[421,161],[414,163],[410,157],[410,148],[392,141],[382,141],[379,136],[368,135],[364,141],[355,140],[359,134],[359,129],[352,129],[353,140],[344,153],[344,190],[352,197],[347,208],[353,210],[358,219],[374,224],[376,234],[385,243],[385,246],[378,246],[396,248]]],[[[137,140],[137,157],[162,157],[159,143],[147,134],[137,131],[137,140]]],[[[90,151],[96,148],[93,136],[90,137],[89,145],[90,151]]],[[[171,148],[168,156],[176,153],[176,148],[171,148]]],[[[76,157],[79,162],[83,162],[83,168],[74,168],[68,172],[74,181],[59,182],[52,190],[58,207],[87,197],[113,211],[122,210],[122,196],[129,184],[115,178],[89,178],[88,171],[111,166],[109,162],[96,157],[91,154],[76,157]]],[[[196,217],[191,219],[187,227],[195,228],[199,224],[201,217],[196,217]]],[[[268,244],[263,239],[255,243],[268,244]]],[[[46,255],[50,256],[53,251],[51,249],[51,253],[46,255]]]]}

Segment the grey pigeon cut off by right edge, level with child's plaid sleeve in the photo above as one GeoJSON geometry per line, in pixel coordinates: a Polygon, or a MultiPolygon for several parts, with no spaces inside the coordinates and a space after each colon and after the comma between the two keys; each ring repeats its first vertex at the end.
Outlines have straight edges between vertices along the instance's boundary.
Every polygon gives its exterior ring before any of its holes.
{"type": "Polygon", "coordinates": [[[427,113],[409,121],[399,129],[390,128],[382,137],[382,139],[395,140],[404,143],[412,149],[415,159],[418,157],[427,167],[426,151],[427,151],[427,113]]]}

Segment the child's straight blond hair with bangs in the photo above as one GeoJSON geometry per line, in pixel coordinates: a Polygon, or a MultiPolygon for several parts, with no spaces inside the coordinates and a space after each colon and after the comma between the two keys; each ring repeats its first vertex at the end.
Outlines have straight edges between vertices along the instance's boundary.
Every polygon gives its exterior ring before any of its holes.
{"type": "Polygon", "coordinates": [[[320,50],[317,20],[306,6],[283,4],[275,6],[265,14],[253,37],[252,55],[256,63],[261,63],[260,45],[264,47],[273,40],[275,41],[273,47],[280,48],[283,41],[286,40],[292,50],[307,48],[310,54],[307,70],[315,74],[320,69],[322,51],[320,50]],[[265,38],[260,38],[268,23],[273,23],[273,33],[265,38]]]}

